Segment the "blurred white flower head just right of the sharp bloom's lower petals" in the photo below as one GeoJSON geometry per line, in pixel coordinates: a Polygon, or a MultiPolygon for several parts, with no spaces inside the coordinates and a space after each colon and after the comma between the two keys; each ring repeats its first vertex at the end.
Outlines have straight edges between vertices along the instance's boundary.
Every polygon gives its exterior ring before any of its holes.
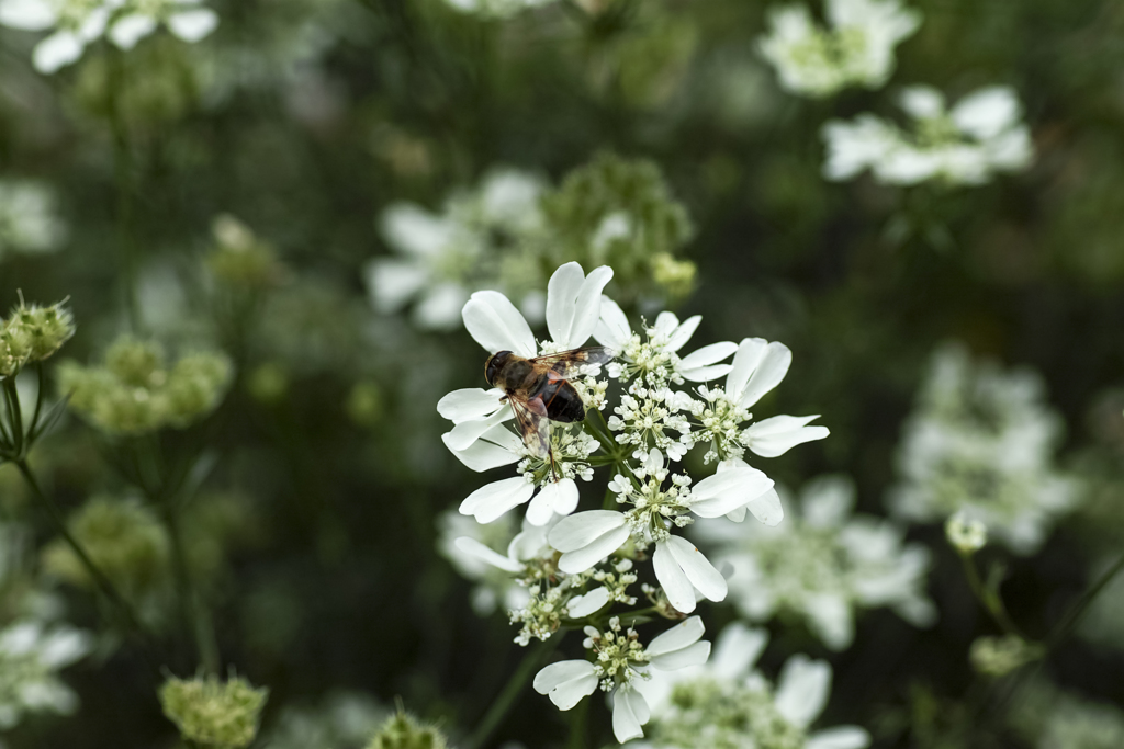
{"type": "Polygon", "coordinates": [[[931,624],[928,550],[903,544],[903,530],[889,521],[853,515],[854,499],[850,478],[824,476],[805,485],[799,503],[786,502],[780,526],[710,523],[697,538],[733,567],[729,595],[751,621],[795,614],[833,650],[853,641],[860,609],[889,606],[918,627],[931,624]]]}

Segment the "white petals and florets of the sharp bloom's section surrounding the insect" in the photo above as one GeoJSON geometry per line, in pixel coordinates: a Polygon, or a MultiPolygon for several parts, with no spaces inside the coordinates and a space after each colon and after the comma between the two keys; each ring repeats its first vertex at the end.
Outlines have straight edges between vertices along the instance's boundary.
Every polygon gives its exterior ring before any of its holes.
{"type": "MultiPolygon", "coordinates": [[[[601,290],[613,278],[607,266],[587,276],[577,263],[566,263],[551,276],[546,291],[546,327],[552,339],[535,341],[526,319],[498,291],[478,291],[464,304],[464,327],[489,354],[509,350],[533,358],[541,354],[579,348],[589,340],[600,314],[601,290]]],[[[461,503],[461,512],[480,522],[491,522],[526,502],[527,519],[543,526],[555,514],[573,512],[578,505],[574,477],[589,477],[587,458],[598,447],[596,439],[556,428],[552,444],[561,468],[544,468],[523,440],[502,426],[514,412],[499,389],[457,390],[437,403],[437,411],[455,426],[442,436],[448,449],[473,471],[519,463],[519,475],[487,484],[461,503]],[[556,481],[555,481],[556,479],[556,481]],[[537,494],[536,494],[537,490],[537,494]],[[532,499],[534,496],[534,499],[532,499]]]]}

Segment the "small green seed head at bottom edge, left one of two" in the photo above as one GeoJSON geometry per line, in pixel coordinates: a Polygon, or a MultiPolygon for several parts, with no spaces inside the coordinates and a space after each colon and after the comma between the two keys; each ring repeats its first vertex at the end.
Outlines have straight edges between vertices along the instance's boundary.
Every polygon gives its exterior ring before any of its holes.
{"type": "Polygon", "coordinates": [[[269,689],[233,677],[169,678],[160,687],[160,704],[185,741],[208,747],[241,749],[257,734],[257,720],[269,689]]]}

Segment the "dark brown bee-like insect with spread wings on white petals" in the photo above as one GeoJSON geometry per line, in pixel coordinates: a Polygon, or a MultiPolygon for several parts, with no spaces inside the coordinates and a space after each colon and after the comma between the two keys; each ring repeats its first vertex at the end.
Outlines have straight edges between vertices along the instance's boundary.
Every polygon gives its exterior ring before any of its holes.
{"type": "MultiPolygon", "coordinates": [[[[613,350],[604,346],[573,348],[527,359],[497,351],[484,362],[484,380],[504,391],[511,404],[519,433],[535,455],[551,455],[550,422],[572,423],[586,418],[586,405],[568,376],[582,366],[605,364],[613,350]]],[[[552,460],[553,463],[553,460],[552,460]]]]}

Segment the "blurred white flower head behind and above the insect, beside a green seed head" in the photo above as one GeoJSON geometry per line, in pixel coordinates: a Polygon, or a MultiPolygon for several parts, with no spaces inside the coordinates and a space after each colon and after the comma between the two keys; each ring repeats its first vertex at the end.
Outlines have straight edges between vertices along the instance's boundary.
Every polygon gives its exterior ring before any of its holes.
{"type": "Polygon", "coordinates": [[[545,184],[510,168],[496,168],[480,185],[450,198],[439,214],[414,203],[395,203],[379,217],[379,230],[400,257],[379,257],[366,266],[371,302],[382,313],[411,300],[415,323],[451,330],[472,290],[518,292],[523,314],[543,319],[537,261],[523,252],[543,228],[538,199],[545,184]]]}

